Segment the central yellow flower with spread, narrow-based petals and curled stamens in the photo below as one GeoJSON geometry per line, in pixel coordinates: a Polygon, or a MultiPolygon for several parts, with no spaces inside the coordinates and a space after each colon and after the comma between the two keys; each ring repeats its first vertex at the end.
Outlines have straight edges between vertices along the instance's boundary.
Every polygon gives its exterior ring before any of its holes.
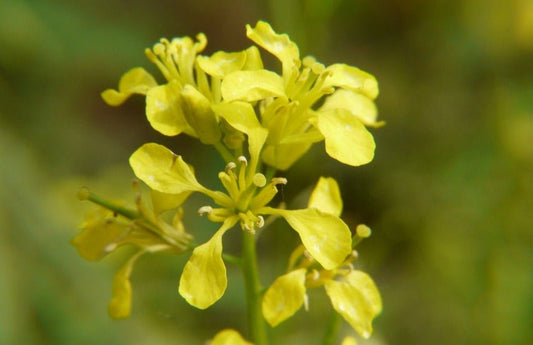
{"type": "MultiPolygon", "coordinates": [[[[250,128],[243,129],[254,133],[250,128]]],[[[264,142],[264,136],[262,138],[264,142]]],[[[250,136],[251,162],[257,161],[261,147],[261,140],[250,136]],[[258,141],[257,147],[252,145],[255,140],[258,141]]],[[[227,278],[222,260],[222,236],[237,223],[243,231],[253,234],[263,226],[265,215],[285,218],[299,234],[307,251],[327,269],[340,265],[351,252],[350,230],[338,216],[312,207],[301,210],[268,207],[278,191],[276,185],[285,184],[287,180],[274,178],[267,183],[265,176],[256,173],[254,164],[248,164],[246,158],[239,157],[237,163],[239,165],[228,163],[218,175],[226,189],[224,193],[201,185],[182,157],[164,146],[145,144],[130,157],[135,175],[150,188],[172,194],[200,192],[218,205],[199,210],[211,221],[221,222],[222,226],[209,241],[194,249],[180,279],[180,294],[200,309],[211,306],[224,294],[227,278]]]]}

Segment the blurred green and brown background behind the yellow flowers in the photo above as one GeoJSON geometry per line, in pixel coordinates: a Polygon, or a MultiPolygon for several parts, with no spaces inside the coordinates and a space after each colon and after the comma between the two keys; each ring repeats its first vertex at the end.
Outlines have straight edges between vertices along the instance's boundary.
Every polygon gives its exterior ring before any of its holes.
{"type": "MultiPolygon", "coordinates": [[[[227,294],[201,312],[177,293],[186,258],[165,255],[140,260],[133,315],[110,320],[112,274],[127,250],[94,264],[68,241],[90,208],[78,188],[131,195],[127,158],[144,142],[170,146],[216,186],[215,152],[151,130],[141,97],[110,108],[99,93],[131,67],[156,74],[143,50],[160,37],[204,32],[207,53],[244,49],[244,25],[258,19],[302,54],[380,83],[387,126],[373,130],[375,160],[346,167],[317,145],[283,190],[296,207],[320,175],[334,176],[346,221],[373,229],[358,265],[384,311],[362,343],[533,344],[529,0],[1,1],[0,343],[203,344],[222,327],[242,330],[239,272],[229,270],[227,294]]],[[[195,217],[201,202],[185,218],[200,238],[211,229],[195,217]]],[[[262,243],[267,283],[296,236],[279,229],[262,243]]],[[[273,331],[275,343],[317,343],[327,301],[323,291],[310,297],[309,312],[273,331]]]]}

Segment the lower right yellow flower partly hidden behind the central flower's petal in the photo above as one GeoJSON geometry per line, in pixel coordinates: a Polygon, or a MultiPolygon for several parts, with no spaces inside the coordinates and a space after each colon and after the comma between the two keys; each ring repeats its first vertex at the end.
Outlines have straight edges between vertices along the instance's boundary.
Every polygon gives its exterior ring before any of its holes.
{"type": "MultiPolygon", "coordinates": [[[[321,178],[309,200],[310,208],[321,208],[339,215],[342,201],[335,180],[321,178]]],[[[359,226],[361,237],[369,236],[366,226],[359,226]]],[[[289,272],[278,277],[263,297],[263,315],[276,326],[307,304],[306,288],[324,286],[333,308],[364,338],[372,333],[372,319],[381,312],[381,297],[372,279],[354,270],[354,255],[333,268],[312,268],[314,257],[303,247],[291,256],[289,272]]]]}

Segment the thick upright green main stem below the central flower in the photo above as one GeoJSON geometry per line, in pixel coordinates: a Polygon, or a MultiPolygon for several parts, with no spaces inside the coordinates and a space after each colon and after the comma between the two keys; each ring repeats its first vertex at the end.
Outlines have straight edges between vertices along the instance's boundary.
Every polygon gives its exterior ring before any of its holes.
{"type": "Polygon", "coordinates": [[[255,345],[267,345],[265,322],[261,312],[261,283],[257,271],[255,236],[242,232],[242,272],[246,288],[248,330],[255,345]]]}

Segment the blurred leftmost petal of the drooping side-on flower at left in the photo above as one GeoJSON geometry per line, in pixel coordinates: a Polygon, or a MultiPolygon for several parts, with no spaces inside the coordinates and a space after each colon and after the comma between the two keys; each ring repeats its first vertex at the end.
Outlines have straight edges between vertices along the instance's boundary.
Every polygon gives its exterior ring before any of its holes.
{"type": "Polygon", "coordinates": [[[82,232],[71,243],[89,261],[102,259],[131,230],[128,223],[118,222],[111,211],[103,208],[91,212],[80,227],[82,232]]]}

